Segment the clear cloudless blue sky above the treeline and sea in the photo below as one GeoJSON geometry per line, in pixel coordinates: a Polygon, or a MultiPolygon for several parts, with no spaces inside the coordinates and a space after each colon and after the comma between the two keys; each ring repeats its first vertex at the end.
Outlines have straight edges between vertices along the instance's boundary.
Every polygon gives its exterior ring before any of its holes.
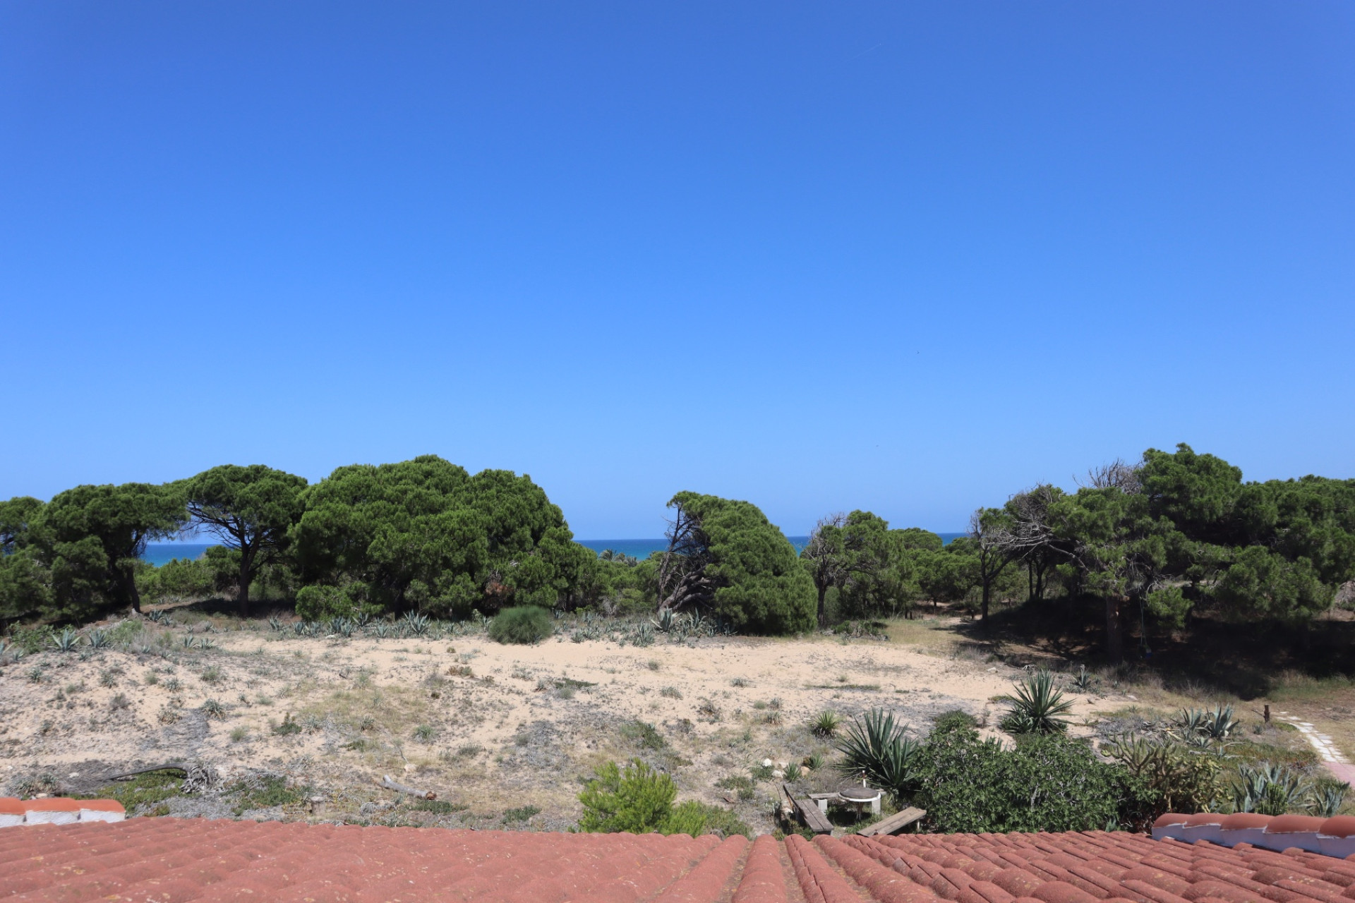
{"type": "Polygon", "coordinates": [[[1355,4],[0,3],[0,497],[1355,477],[1355,4]]]}

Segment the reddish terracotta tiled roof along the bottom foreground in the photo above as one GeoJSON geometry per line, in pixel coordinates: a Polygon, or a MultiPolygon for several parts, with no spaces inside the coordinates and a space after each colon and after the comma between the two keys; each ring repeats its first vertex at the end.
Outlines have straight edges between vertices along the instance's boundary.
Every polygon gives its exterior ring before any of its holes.
{"type": "Polygon", "coordinates": [[[1304,845],[1355,843],[1355,819],[1316,823],[1318,830],[1304,816],[1172,815],[1154,829],[1297,841],[1276,852],[1104,831],[748,843],[140,818],[0,831],[0,900],[1352,903],[1355,861],[1304,845]],[[1241,822],[1229,829],[1233,819],[1241,822]]]}

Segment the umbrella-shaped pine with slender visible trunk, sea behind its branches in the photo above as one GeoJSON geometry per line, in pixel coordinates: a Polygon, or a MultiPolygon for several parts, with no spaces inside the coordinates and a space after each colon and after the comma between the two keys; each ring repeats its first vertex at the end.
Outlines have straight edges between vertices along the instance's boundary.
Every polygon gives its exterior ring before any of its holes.
{"type": "Polygon", "coordinates": [[[306,479],[263,464],[222,464],[179,486],[192,525],[237,556],[236,598],[248,616],[249,583],[285,550],[306,479]]]}

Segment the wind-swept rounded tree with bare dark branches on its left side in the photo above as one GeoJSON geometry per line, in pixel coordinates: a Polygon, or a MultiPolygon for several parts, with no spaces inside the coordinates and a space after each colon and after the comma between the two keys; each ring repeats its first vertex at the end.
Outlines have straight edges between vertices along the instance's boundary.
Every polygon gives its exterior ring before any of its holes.
{"type": "Polygon", "coordinates": [[[678,493],[660,565],[661,608],[699,608],[747,634],[814,627],[814,585],[795,547],[756,505],[678,493]]]}

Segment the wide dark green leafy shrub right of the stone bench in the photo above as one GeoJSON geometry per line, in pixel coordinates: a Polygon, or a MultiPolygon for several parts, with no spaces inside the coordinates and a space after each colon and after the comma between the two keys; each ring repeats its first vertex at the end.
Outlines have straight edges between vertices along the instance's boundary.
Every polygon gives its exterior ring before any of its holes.
{"type": "Polygon", "coordinates": [[[1030,736],[1014,750],[972,728],[934,731],[913,797],[940,831],[1083,831],[1138,822],[1152,792],[1087,743],[1030,736]]]}

